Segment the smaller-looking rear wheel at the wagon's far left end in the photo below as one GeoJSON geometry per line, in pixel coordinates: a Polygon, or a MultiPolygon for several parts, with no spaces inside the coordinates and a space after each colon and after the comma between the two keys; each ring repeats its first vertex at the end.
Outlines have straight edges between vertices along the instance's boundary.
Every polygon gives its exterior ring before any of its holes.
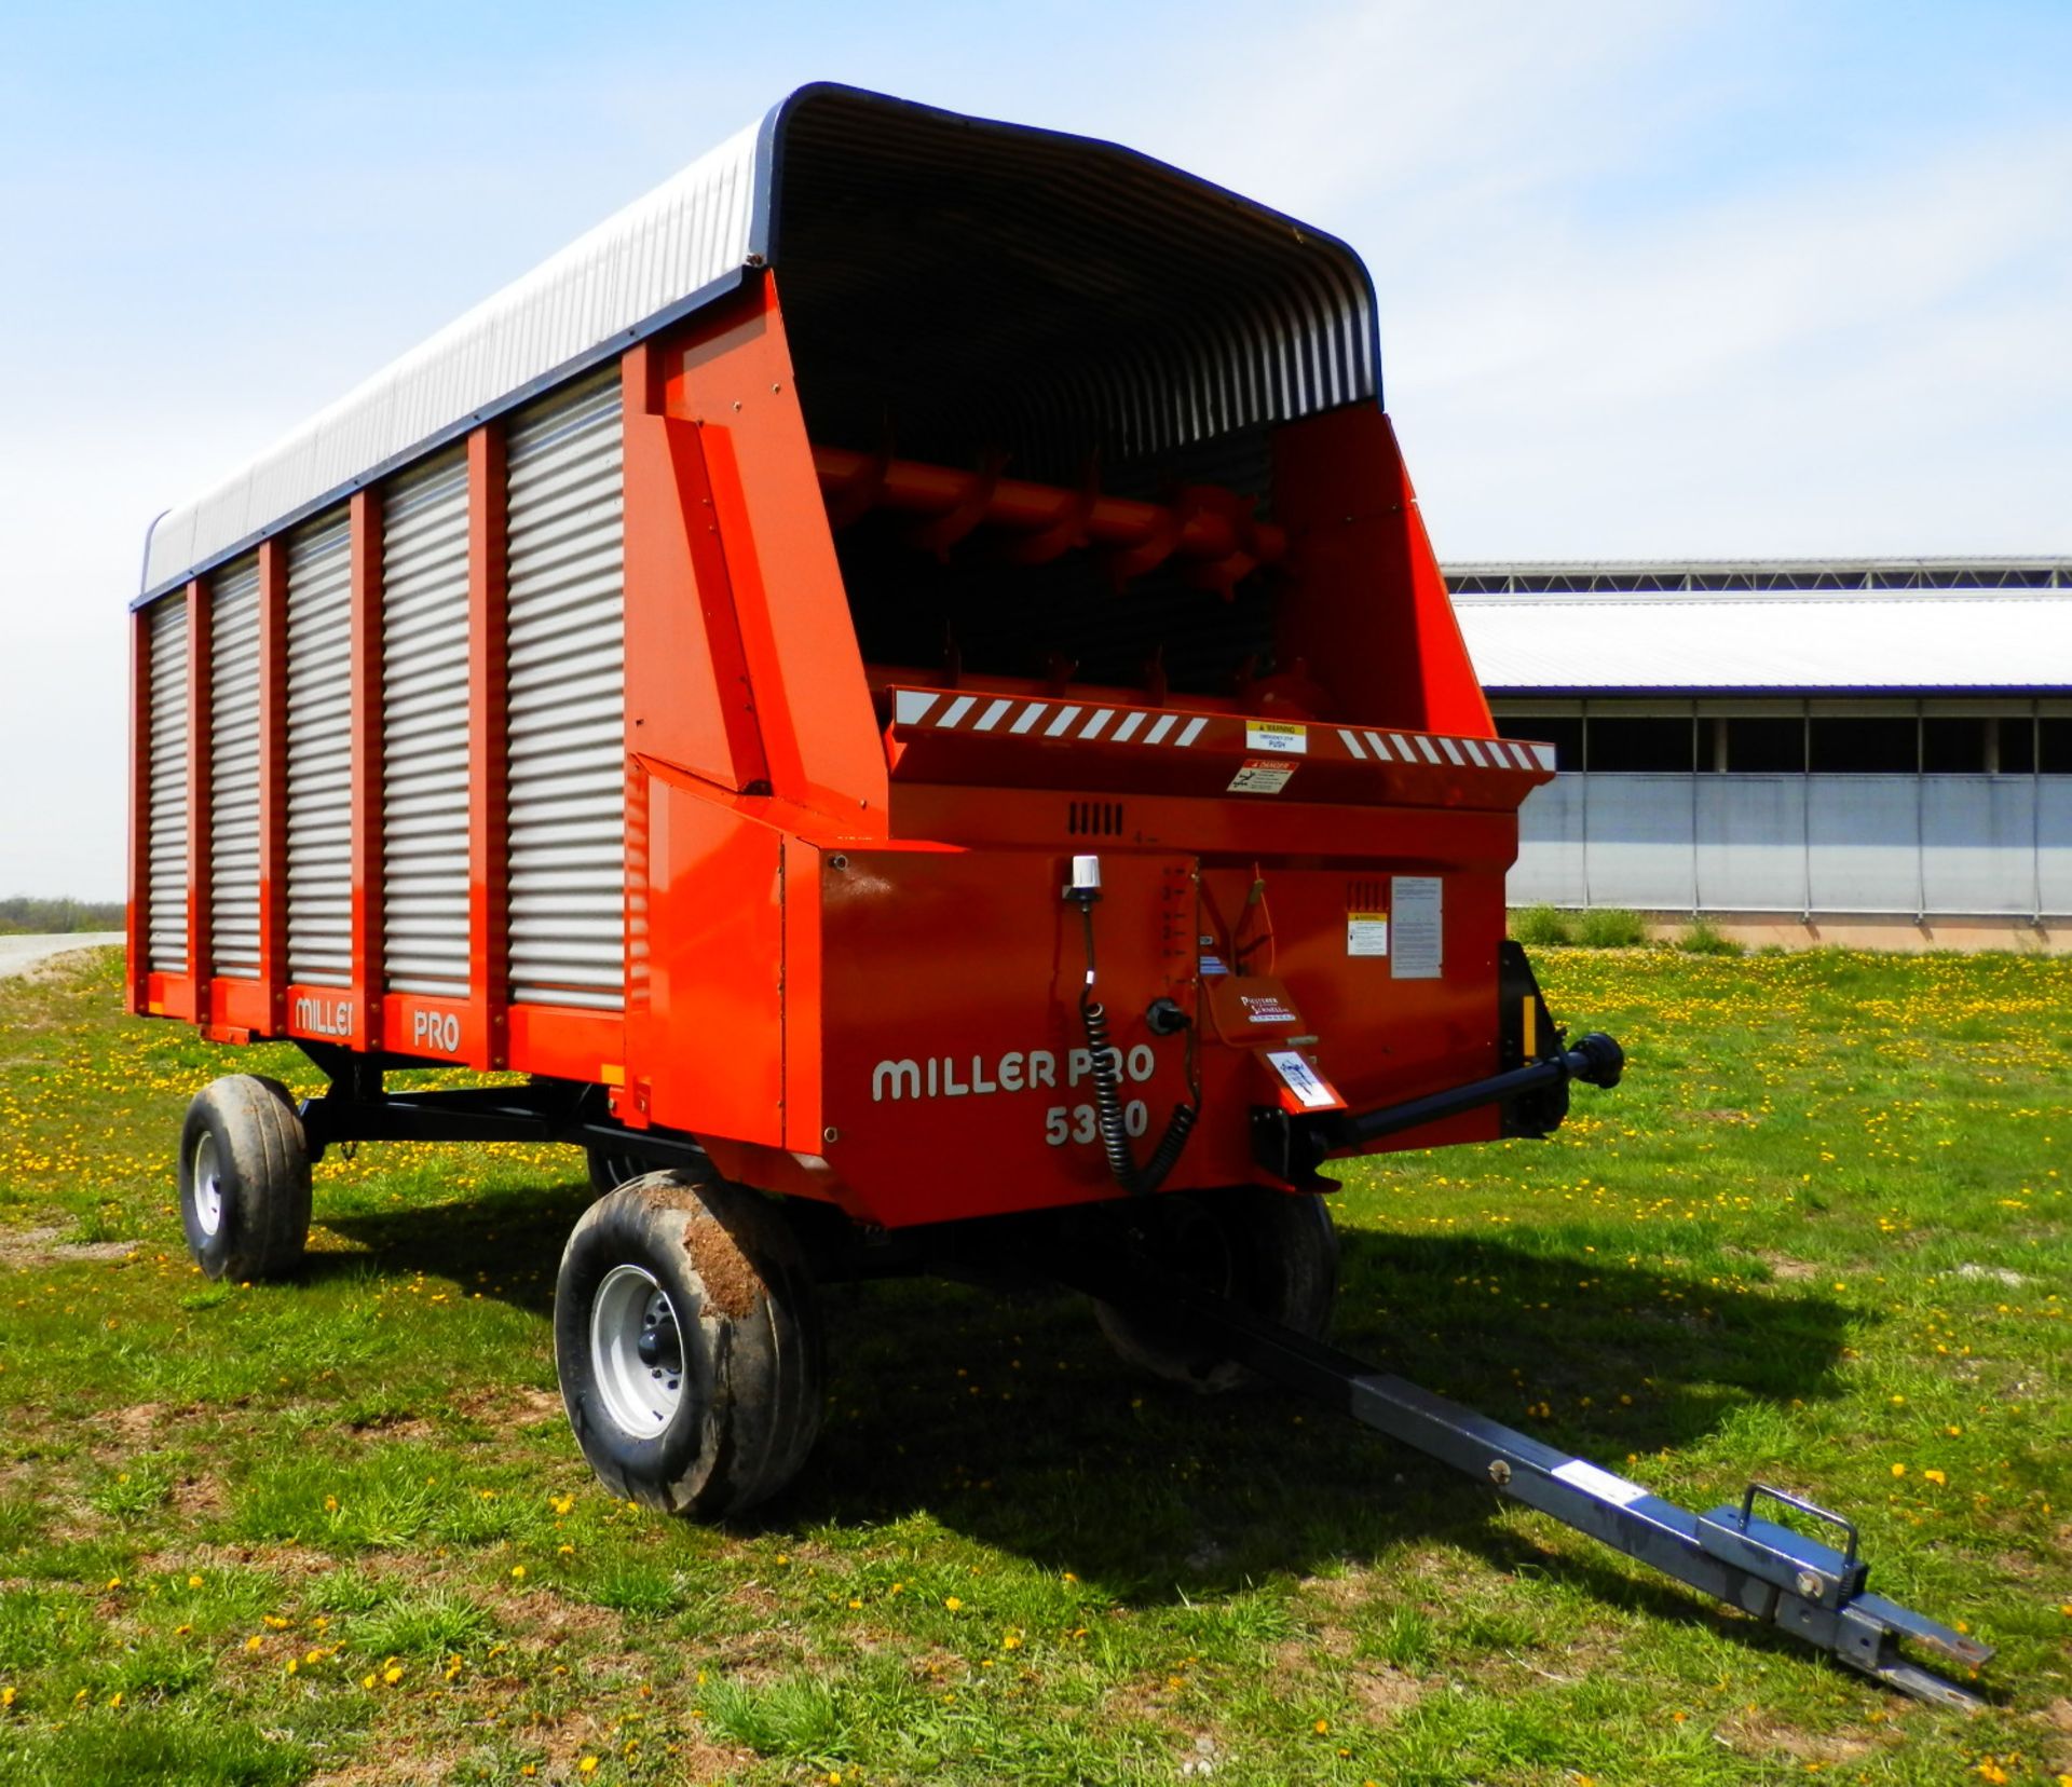
{"type": "Polygon", "coordinates": [[[309,1247],[309,1141],[278,1079],[232,1073],[186,1106],[180,1224],[209,1278],[286,1278],[309,1247]]]}

